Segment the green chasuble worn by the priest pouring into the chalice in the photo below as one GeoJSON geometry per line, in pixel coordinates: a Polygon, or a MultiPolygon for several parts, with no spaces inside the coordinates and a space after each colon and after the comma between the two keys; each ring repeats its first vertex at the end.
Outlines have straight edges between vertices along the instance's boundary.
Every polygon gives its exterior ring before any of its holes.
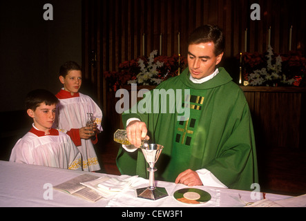
{"type": "MultiPolygon", "coordinates": [[[[150,142],[164,146],[155,164],[156,180],[174,182],[187,169],[207,169],[229,188],[251,190],[251,184],[258,182],[258,171],[244,93],[224,68],[202,84],[194,84],[189,75],[187,68],[163,81],[144,95],[137,110],[122,114],[122,121],[139,118],[146,123],[150,142]]],[[[149,178],[140,149],[128,153],[120,148],[117,166],[122,174],[149,178]]]]}

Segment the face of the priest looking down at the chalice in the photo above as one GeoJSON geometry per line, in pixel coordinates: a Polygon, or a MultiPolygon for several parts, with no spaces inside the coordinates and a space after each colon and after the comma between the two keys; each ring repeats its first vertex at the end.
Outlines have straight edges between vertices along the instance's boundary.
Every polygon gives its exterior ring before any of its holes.
{"type": "Polygon", "coordinates": [[[212,41],[188,46],[187,60],[189,72],[193,78],[202,79],[216,70],[216,65],[220,63],[223,53],[216,56],[214,49],[215,44],[212,41]]]}

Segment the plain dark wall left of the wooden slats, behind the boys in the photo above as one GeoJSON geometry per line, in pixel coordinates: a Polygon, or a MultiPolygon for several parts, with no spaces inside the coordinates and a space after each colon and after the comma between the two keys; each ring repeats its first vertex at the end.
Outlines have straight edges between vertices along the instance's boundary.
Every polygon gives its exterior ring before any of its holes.
{"type": "Polygon", "coordinates": [[[0,2],[0,160],[32,121],[24,98],[30,90],[61,88],[59,66],[82,64],[82,1],[31,0],[0,2]],[[44,4],[53,6],[53,20],[44,20],[44,4]]]}

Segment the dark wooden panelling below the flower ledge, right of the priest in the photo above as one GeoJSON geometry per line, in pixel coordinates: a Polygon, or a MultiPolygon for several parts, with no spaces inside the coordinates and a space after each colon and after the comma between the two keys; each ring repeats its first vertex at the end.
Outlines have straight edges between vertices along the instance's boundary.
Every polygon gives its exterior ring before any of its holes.
{"type": "Polygon", "coordinates": [[[305,150],[305,88],[241,88],[252,113],[258,146],[305,150]]]}

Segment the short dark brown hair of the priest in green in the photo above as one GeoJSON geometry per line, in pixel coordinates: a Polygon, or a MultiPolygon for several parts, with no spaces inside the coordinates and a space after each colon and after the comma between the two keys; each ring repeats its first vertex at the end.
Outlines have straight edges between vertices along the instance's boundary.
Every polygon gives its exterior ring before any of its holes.
{"type": "Polygon", "coordinates": [[[215,44],[215,55],[218,56],[224,51],[224,35],[218,26],[204,25],[193,30],[188,39],[190,44],[200,44],[213,41],[215,44]]]}

